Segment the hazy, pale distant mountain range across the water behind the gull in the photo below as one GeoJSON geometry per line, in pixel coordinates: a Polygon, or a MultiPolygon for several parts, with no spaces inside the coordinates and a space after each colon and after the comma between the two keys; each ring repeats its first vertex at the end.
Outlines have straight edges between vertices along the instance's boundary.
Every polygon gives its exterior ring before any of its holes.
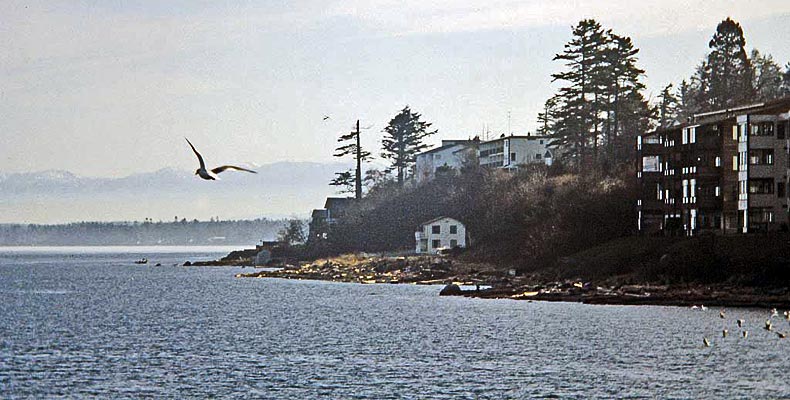
{"type": "Polygon", "coordinates": [[[278,162],[256,168],[258,174],[224,173],[219,181],[173,168],[122,178],[0,173],[0,223],[305,217],[336,195],[328,183],[348,167],[278,162]]]}

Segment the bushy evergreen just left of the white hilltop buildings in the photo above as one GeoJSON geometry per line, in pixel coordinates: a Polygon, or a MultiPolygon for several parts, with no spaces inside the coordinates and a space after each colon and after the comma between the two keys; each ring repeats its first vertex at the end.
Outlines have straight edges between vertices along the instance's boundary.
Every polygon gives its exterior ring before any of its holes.
{"type": "Polygon", "coordinates": [[[431,124],[421,121],[420,117],[406,106],[384,128],[381,156],[392,163],[388,170],[396,171],[399,186],[403,186],[417,154],[428,148],[423,139],[436,133],[436,130],[430,130],[431,124]]]}

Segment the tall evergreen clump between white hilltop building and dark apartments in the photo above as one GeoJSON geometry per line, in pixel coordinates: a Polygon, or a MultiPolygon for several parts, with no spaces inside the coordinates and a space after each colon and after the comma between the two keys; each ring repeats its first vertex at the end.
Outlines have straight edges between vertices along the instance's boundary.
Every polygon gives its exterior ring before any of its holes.
{"type": "Polygon", "coordinates": [[[644,125],[651,115],[641,94],[644,70],[637,66],[638,53],[630,38],[583,20],[554,57],[565,61],[565,69],[552,75],[564,85],[538,115],[538,132],[550,134],[551,145],[561,148],[572,164],[630,158],[627,150],[639,133],[631,127],[644,125]]]}

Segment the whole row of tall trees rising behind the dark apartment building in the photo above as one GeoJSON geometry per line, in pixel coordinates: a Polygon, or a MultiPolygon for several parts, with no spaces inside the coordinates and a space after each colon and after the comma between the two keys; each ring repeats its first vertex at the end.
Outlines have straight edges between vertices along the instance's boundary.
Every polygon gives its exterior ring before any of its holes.
{"type": "Polygon", "coordinates": [[[769,54],[747,54],[738,22],[719,23],[708,45],[694,74],[677,86],[668,84],[651,102],[631,38],[593,19],[580,21],[554,57],[562,62],[562,70],[552,74],[560,88],[538,114],[538,133],[552,138],[570,166],[630,164],[636,135],[696,113],[790,96],[790,63],[782,70],[769,54]]]}

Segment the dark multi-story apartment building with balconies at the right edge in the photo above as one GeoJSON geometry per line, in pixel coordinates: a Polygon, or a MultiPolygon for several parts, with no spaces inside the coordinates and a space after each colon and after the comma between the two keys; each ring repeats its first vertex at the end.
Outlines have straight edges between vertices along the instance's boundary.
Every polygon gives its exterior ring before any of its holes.
{"type": "Polygon", "coordinates": [[[697,114],[639,136],[639,230],[787,230],[788,135],[790,98],[697,114]]]}

